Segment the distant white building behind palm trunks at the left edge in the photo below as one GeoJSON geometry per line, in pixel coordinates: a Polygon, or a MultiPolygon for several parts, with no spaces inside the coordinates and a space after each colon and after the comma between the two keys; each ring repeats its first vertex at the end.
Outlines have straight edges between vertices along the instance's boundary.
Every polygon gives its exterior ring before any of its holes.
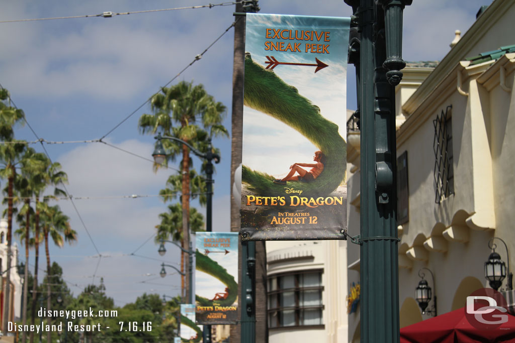
{"type": "MultiPolygon", "coordinates": [[[[18,320],[21,317],[21,301],[23,292],[23,282],[21,276],[18,274],[18,244],[11,245],[12,258],[11,258],[11,301],[9,320],[18,320]]],[[[4,306],[5,294],[5,276],[7,272],[7,219],[0,219],[0,273],[2,273],[2,292],[0,299],[2,299],[2,306],[4,306]]],[[[3,310],[3,309],[2,309],[3,310]]],[[[3,311],[2,311],[3,313],[3,311]]]]}

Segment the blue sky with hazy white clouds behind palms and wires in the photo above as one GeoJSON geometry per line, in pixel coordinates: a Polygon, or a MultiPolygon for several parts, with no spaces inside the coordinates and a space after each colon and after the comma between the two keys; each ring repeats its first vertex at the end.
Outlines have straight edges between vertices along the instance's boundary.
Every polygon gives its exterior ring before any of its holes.
{"type": "MultiPolygon", "coordinates": [[[[479,7],[490,2],[414,1],[404,11],[403,58],[441,60],[450,50],[454,31],[465,33],[479,7]]],[[[231,26],[235,7],[224,4],[228,6],[134,13],[209,3],[0,1],[0,84],[9,90],[13,103],[24,110],[28,121],[28,125],[15,129],[15,136],[27,141],[41,138],[66,142],[44,143],[44,148],[68,174],[66,189],[75,200],[73,204],[70,200],[58,204],[70,216],[78,241],[62,248],[51,246],[50,259],[63,267],[63,278],[75,295],[88,284],[98,284],[100,278],[106,294],[118,306],[133,302],[145,292],[179,294],[180,278],[173,269],[168,268],[165,278],[159,276],[161,263],[178,266],[179,249],[167,244],[167,253],[161,257],[153,242],[158,214],[168,205],[156,195],[168,175],[177,173],[178,168],[170,165],[167,170],[152,171],[154,139],[140,134],[138,119],[150,113],[145,104],[148,98],[231,26]],[[107,11],[132,13],[2,23],[107,11]],[[100,138],[107,144],[83,142],[100,138]]],[[[351,15],[351,8],[341,0],[261,0],[259,5],[261,13],[351,15]]],[[[209,94],[227,106],[224,124],[229,130],[233,38],[231,28],[172,82],[202,83],[209,94]]],[[[349,109],[356,108],[353,75],[354,68],[349,66],[349,109]]],[[[214,176],[214,231],[229,231],[230,227],[230,142],[229,138],[213,141],[221,151],[214,176]]],[[[31,147],[43,151],[40,143],[31,147]]],[[[200,160],[192,158],[194,167],[199,167],[200,160]]],[[[1,182],[3,187],[4,180],[1,182]]],[[[33,251],[29,266],[33,268],[33,251]]]]}

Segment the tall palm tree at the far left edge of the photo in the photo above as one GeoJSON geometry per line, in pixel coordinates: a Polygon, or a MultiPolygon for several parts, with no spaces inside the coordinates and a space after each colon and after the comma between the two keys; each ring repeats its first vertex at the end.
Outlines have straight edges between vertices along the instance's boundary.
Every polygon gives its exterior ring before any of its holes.
{"type": "Polygon", "coordinates": [[[11,282],[11,245],[12,245],[12,215],[13,215],[13,185],[16,175],[16,165],[20,162],[20,156],[26,147],[26,142],[14,140],[13,127],[22,123],[23,111],[10,105],[7,89],[0,90],[0,140],[5,143],[0,145],[0,177],[7,179],[7,275],[6,292],[3,306],[2,330],[7,332],[7,322],[10,308],[10,282],[11,282]],[[7,104],[5,103],[7,101],[7,104]]]}

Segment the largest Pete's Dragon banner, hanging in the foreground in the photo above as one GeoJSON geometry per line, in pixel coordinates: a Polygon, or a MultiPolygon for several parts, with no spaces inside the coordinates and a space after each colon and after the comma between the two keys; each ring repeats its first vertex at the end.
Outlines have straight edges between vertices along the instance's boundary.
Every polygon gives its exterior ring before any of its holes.
{"type": "Polygon", "coordinates": [[[246,18],[242,240],[346,239],[350,19],[246,18]]]}

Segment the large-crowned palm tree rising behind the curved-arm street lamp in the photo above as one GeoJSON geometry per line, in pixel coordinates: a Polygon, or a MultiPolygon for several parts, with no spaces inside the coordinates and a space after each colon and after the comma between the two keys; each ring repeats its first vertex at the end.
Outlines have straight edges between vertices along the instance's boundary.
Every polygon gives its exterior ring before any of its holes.
{"type": "MultiPolygon", "coordinates": [[[[153,114],[143,114],[138,124],[142,133],[161,131],[165,135],[190,143],[200,151],[206,150],[205,143],[210,137],[229,136],[222,125],[226,107],[221,102],[216,102],[202,84],[193,86],[193,82],[181,81],[169,88],[163,87],[160,93],[152,96],[150,104],[153,114]]],[[[187,249],[190,241],[187,229],[190,212],[190,149],[185,145],[179,148],[168,140],[163,141],[163,147],[169,152],[170,160],[178,155],[182,156],[182,231],[186,233],[182,247],[187,249]]]]}

